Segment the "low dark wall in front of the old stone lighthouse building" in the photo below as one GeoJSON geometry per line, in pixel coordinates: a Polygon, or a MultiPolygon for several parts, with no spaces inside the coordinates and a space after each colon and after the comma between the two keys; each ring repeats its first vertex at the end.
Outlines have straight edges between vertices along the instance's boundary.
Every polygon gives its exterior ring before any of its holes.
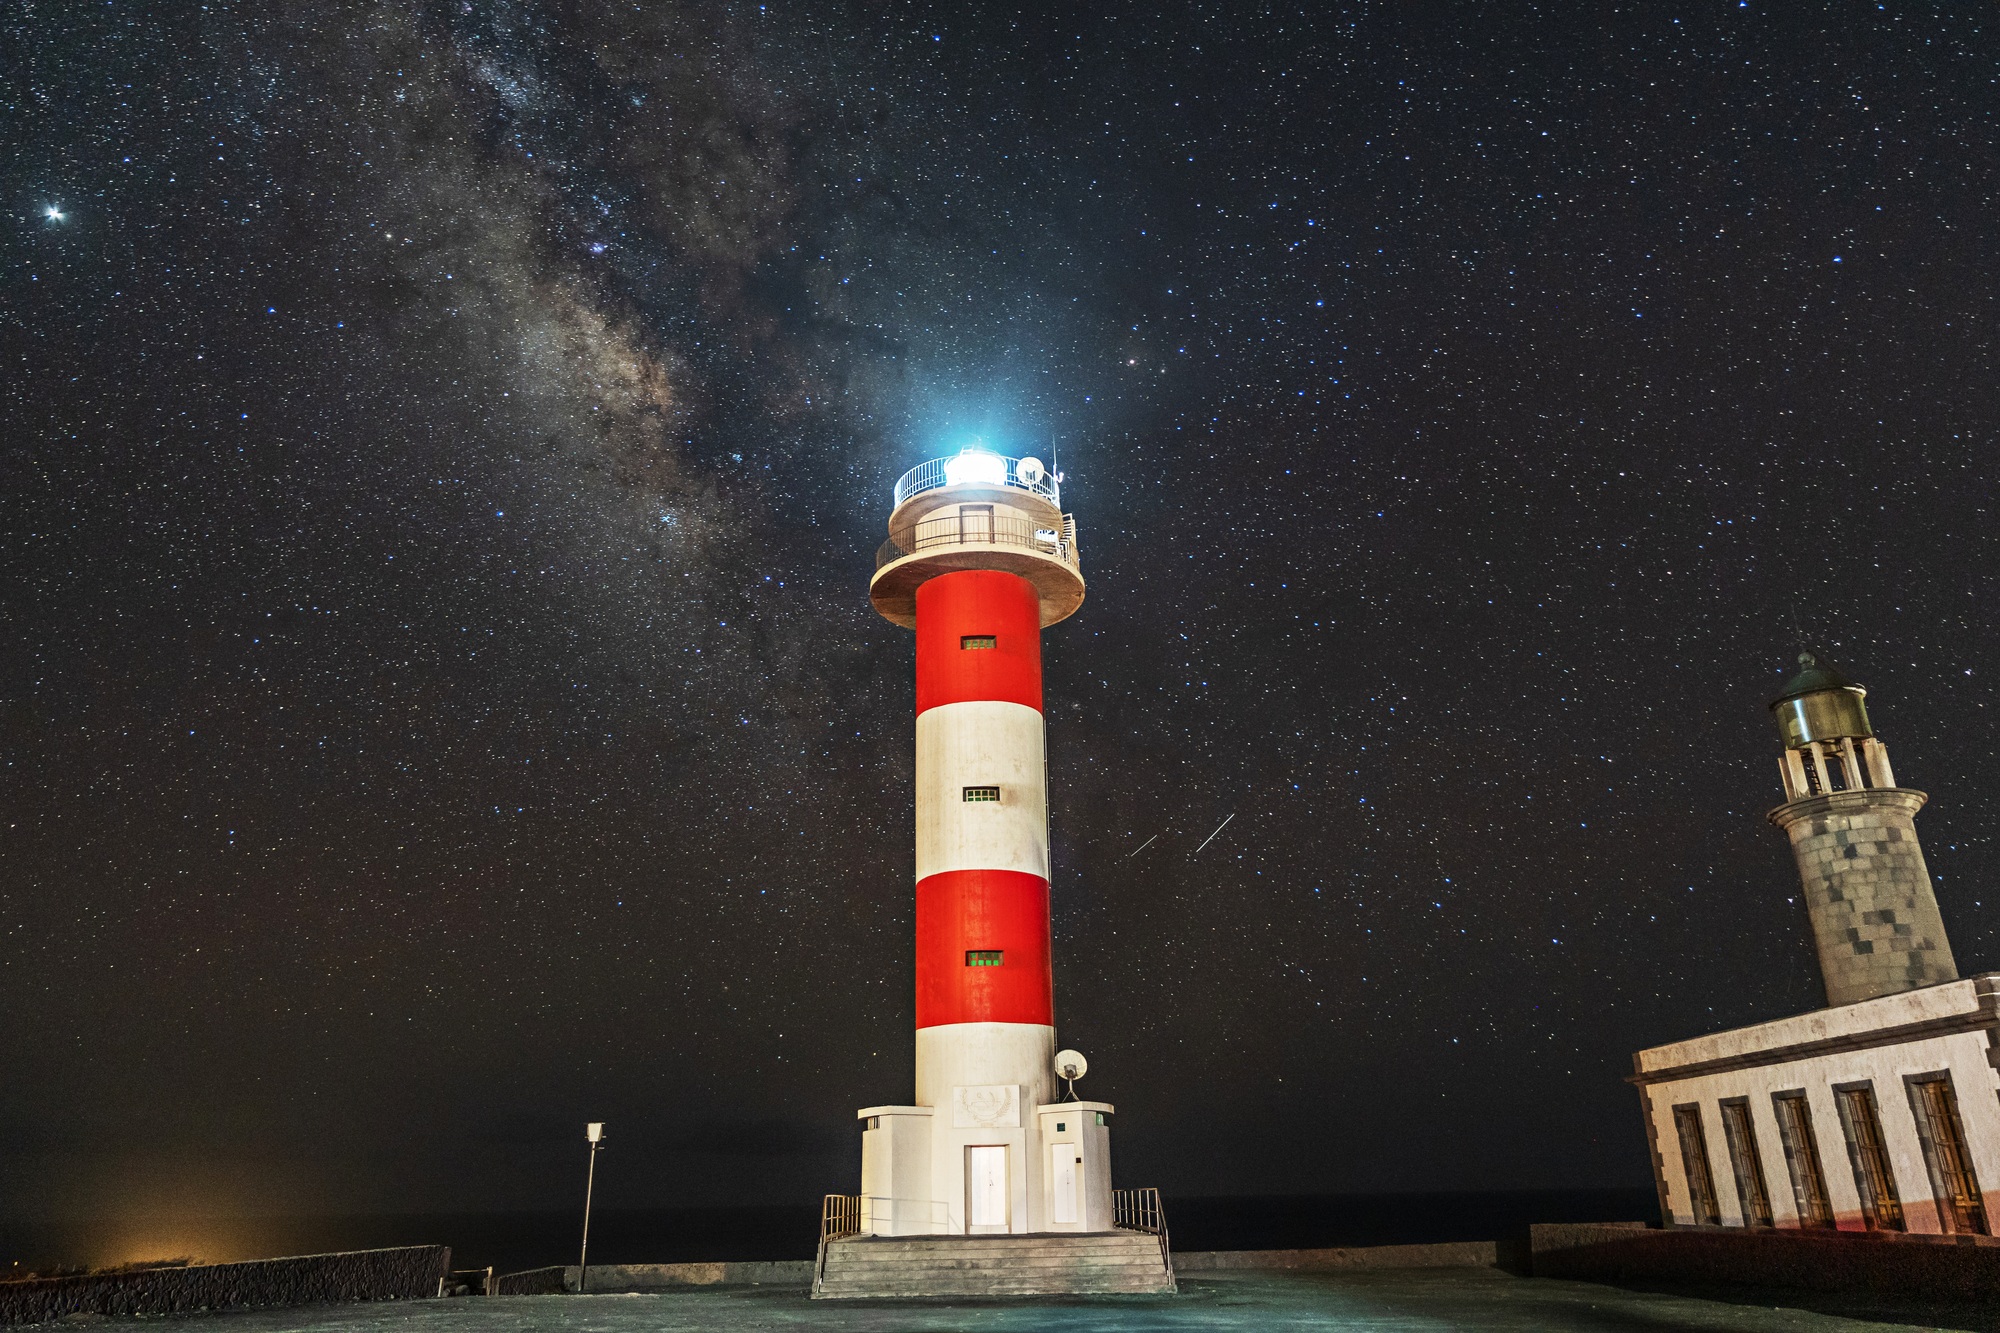
{"type": "Polygon", "coordinates": [[[1536,1277],[2000,1297],[1994,1237],[1556,1223],[1530,1227],[1528,1249],[1536,1277]]]}

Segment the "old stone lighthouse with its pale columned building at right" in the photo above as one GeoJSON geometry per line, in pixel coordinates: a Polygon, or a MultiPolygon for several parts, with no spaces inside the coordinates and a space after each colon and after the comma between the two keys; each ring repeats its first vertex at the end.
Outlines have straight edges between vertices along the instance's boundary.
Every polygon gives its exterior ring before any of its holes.
{"type": "Polygon", "coordinates": [[[1800,656],[1772,701],[1826,1009],[1634,1057],[1668,1227],[1990,1235],[2000,975],[1958,977],[1866,691],[1800,656]]]}

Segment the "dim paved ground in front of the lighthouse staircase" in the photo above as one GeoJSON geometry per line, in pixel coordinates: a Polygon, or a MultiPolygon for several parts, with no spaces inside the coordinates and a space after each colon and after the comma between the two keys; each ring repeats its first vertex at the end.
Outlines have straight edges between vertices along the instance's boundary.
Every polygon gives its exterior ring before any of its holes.
{"type": "MultiPolygon", "coordinates": [[[[1810,1313],[1792,1305],[1650,1295],[1508,1277],[1494,1269],[1376,1273],[1204,1273],[1178,1297],[1086,1297],[1028,1303],[808,1301],[798,1291],[726,1289],[670,1295],[494,1297],[244,1311],[172,1321],[172,1333],[1862,1333],[1982,1329],[1810,1313]]],[[[1776,1297],[1792,1299],[1792,1297],[1776,1297]]],[[[1796,1297],[1808,1299],[1808,1297],[1796,1297]]],[[[1990,1315],[1988,1315],[1990,1319],[1990,1315]]],[[[166,1333],[166,1331],[162,1331],[166,1333]]]]}

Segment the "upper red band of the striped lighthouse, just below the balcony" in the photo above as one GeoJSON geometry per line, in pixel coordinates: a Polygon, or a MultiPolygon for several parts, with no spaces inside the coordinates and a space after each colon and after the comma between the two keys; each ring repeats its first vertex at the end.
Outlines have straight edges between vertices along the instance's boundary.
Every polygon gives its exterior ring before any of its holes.
{"type": "Polygon", "coordinates": [[[916,711],[992,699],[1042,709],[1042,600],[1004,570],[938,574],[916,588],[916,711]],[[992,634],[992,648],[964,640],[992,634]]]}

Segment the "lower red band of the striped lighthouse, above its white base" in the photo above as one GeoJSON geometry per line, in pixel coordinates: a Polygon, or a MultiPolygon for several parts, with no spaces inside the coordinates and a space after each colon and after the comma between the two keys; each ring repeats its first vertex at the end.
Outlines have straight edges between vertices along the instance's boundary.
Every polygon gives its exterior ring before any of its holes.
{"type": "Polygon", "coordinates": [[[916,1025],[1056,1021],[1048,881],[1024,871],[944,871],[916,883],[916,1025]],[[1000,967],[966,967],[998,949],[1000,967]]]}

